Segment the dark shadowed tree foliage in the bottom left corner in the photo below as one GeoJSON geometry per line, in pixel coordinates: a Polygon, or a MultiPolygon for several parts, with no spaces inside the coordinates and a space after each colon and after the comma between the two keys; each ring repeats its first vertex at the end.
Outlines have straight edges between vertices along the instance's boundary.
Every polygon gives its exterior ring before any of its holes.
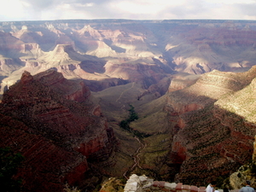
{"type": "Polygon", "coordinates": [[[15,154],[10,148],[0,148],[0,186],[1,191],[20,191],[21,179],[15,178],[24,157],[15,154]]]}

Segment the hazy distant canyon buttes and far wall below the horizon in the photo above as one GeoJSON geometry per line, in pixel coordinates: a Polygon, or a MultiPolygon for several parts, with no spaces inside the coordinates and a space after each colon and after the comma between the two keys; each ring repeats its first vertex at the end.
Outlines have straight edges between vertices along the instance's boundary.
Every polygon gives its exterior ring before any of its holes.
{"type": "MultiPolygon", "coordinates": [[[[170,73],[246,71],[256,61],[255,25],[239,20],[2,22],[1,93],[23,71],[52,67],[67,79],[113,80],[109,86],[124,79],[146,88],[170,73]]],[[[183,83],[173,82],[171,91],[189,85],[183,83]]]]}

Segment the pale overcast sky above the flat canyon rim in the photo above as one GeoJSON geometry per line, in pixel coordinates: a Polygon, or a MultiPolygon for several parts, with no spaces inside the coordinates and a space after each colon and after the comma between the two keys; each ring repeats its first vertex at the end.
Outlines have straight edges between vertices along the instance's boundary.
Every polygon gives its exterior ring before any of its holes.
{"type": "Polygon", "coordinates": [[[256,20],[256,0],[0,0],[0,21],[256,20]]]}

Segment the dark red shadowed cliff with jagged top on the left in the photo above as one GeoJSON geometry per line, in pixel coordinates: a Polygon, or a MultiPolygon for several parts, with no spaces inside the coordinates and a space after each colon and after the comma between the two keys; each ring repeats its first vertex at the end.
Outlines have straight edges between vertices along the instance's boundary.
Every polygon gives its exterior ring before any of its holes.
{"type": "Polygon", "coordinates": [[[25,156],[19,175],[27,190],[61,191],[66,182],[86,187],[88,161],[113,152],[113,131],[88,87],[54,70],[23,73],[3,95],[0,114],[0,146],[25,156]]]}

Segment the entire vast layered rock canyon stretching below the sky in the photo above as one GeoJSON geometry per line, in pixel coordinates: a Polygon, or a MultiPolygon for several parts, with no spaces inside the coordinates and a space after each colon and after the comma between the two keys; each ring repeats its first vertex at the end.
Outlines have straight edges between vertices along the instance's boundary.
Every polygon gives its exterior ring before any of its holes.
{"type": "Polygon", "coordinates": [[[253,155],[255,44],[253,20],[0,22],[0,147],[32,191],[224,183],[253,155]]]}

